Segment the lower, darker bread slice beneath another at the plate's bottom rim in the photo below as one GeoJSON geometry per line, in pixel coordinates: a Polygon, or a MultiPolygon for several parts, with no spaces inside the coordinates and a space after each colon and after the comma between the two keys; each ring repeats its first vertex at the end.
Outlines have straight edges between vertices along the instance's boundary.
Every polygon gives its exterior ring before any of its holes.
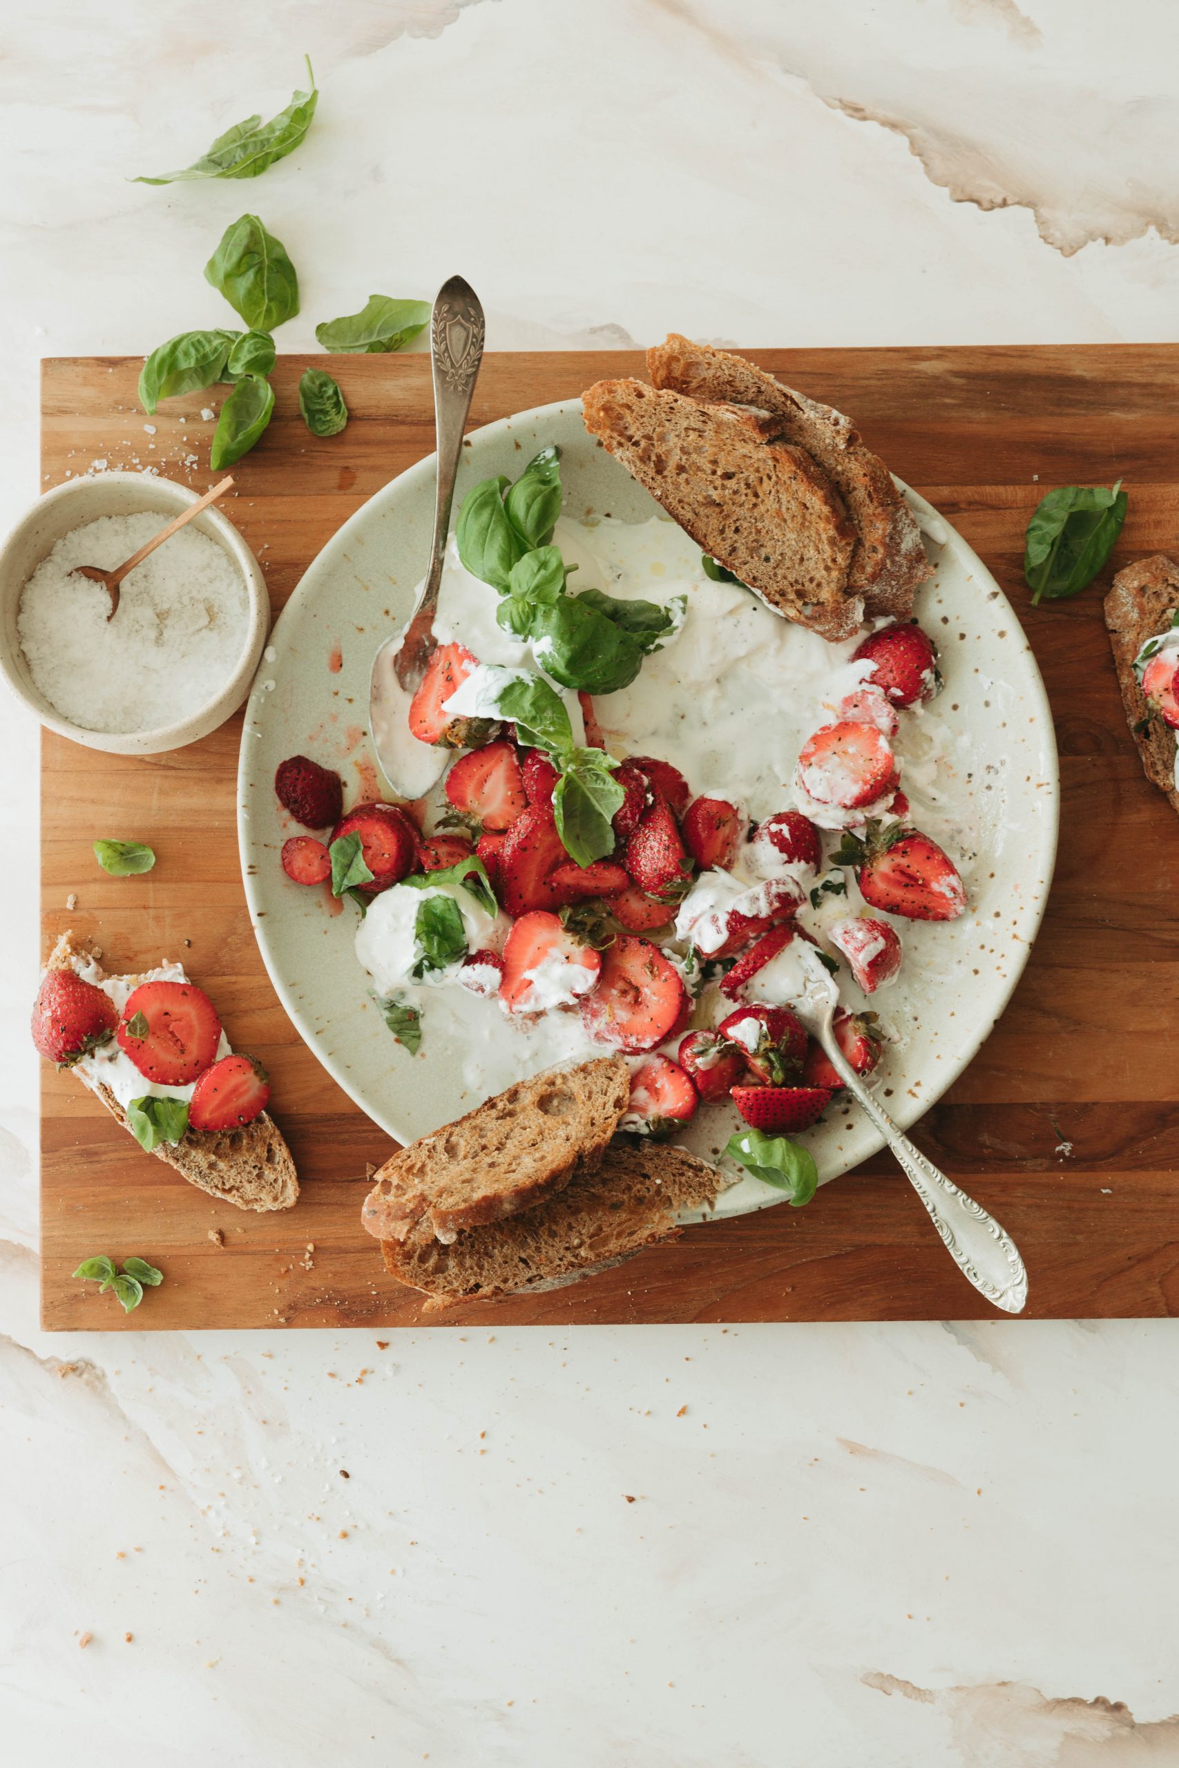
{"type": "Polygon", "coordinates": [[[679,1234],[681,1209],[711,1206],[732,1179],[682,1147],[615,1142],[546,1202],[444,1245],[419,1223],[384,1241],[385,1269],[421,1289],[428,1310],[559,1289],[679,1234]]]}

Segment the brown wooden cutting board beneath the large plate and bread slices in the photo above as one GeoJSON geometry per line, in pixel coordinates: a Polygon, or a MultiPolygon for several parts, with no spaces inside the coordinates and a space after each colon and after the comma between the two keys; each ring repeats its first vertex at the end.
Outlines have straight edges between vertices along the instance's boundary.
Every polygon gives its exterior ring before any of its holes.
{"type": "MultiPolygon", "coordinates": [[[[1029,1315],[1179,1312],[1179,827],[1126,730],[1099,587],[1031,608],[1020,569],[1043,490],[1117,476],[1130,518],[1103,583],[1130,557],[1179,550],[1179,348],[753,354],[852,412],[977,548],[1025,621],[1053,705],[1062,827],[1046,921],[1000,1025],[916,1140],[1015,1234],[1029,1315]]],[[[276,613],[339,523],[433,447],[424,355],[336,357],[352,421],[323,442],[297,412],[308,362],[323,357],[279,361],[279,415],[233,469],[239,493],[226,506],[263,564],[276,613]]],[[[138,359],[42,368],[42,486],[95,460],[210,483],[207,394],[161,408],[150,435],[134,398],[138,359]]],[[[490,355],[472,428],[619,373],[642,373],[640,357],[490,355]]],[[[239,732],[233,718],[205,743],[145,760],[44,734],[44,941],[72,926],[120,971],[182,958],[233,1043],[270,1070],[302,1197],[278,1216],[217,1204],[143,1155],[76,1080],[42,1068],[48,1328],[424,1324],[359,1225],[366,1163],[391,1144],[299,1041],[255,946],[233,820],[239,732]],[[106,877],[90,852],[95,836],[150,842],[156,870],[106,877]],[[138,1254],[166,1275],[127,1319],[94,1284],[71,1280],[103,1252],[138,1254]]],[[[585,1284],[445,1322],[944,1317],[992,1310],[880,1155],[806,1209],[695,1227],[585,1284]]]]}

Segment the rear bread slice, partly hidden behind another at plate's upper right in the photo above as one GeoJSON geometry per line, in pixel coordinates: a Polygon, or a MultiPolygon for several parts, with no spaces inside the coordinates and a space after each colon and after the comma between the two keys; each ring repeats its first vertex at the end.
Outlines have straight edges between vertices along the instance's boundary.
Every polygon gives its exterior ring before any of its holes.
{"type": "Polygon", "coordinates": [[[879,454],[843,412],[808,400],[742,355],[670,332],[647,350],[652,385],[695,400],[751,405],[780,419],[780,435],[818,461],[840,490],[856,527],[848,587],[864,598],[864,615],[909,619],[919,583],[933,575],[921,529],[879,454]]]}

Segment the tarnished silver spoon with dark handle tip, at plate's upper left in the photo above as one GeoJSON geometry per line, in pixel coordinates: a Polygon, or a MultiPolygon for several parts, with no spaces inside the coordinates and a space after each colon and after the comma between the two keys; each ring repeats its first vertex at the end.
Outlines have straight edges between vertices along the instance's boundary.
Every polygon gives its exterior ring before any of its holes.
{"type": "MultiPolygon", "coordinates": [[[[389,783],[403,797],[421,797],[442,773],[445,757],[428,744],[415,744],[422,753],[405,751],[392,743],[405,727],[405,697],[422,682],[430,658],[438,640],[433,617],[438,608],[442,559],[451,527],[454,479],[463,451],[463,426],[475,391],[475,377],[483,362],[484,320],[479,297],[461,276],[453,276],[435,297],[430,318],[430,366],[433,371],[435,437],[438,476],[435,484],[433,539],[430,566],[417,606],[408,624],[394,633],[377,651],[369,682],[369,730],[377,760],[389,783]],[[401,751],[401,753],[399,753],[401,751]],[[426,778],[430,774],[430,778],[426,778]],[[426,781],[422,785],[422,780],[426,781]]],[[[410,739],[415,741],[415,739],[410,739]]]]}

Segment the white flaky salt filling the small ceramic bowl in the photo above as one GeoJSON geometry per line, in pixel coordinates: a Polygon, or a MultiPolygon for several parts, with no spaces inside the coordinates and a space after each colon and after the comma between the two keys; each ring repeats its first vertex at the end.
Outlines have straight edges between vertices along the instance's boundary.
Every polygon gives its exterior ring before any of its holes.
{"type": "Polygon", "coordinates": [[[242,654],[249,598],[232,559],[180,529],[124,578],[108,621],[101,583],[78,564],[122,564],[164,525],[159,511],[99,516],[65,534],[25,583],[16,631],[34,682],[85,730],[177,725],[209,704],[242,654]]]}

